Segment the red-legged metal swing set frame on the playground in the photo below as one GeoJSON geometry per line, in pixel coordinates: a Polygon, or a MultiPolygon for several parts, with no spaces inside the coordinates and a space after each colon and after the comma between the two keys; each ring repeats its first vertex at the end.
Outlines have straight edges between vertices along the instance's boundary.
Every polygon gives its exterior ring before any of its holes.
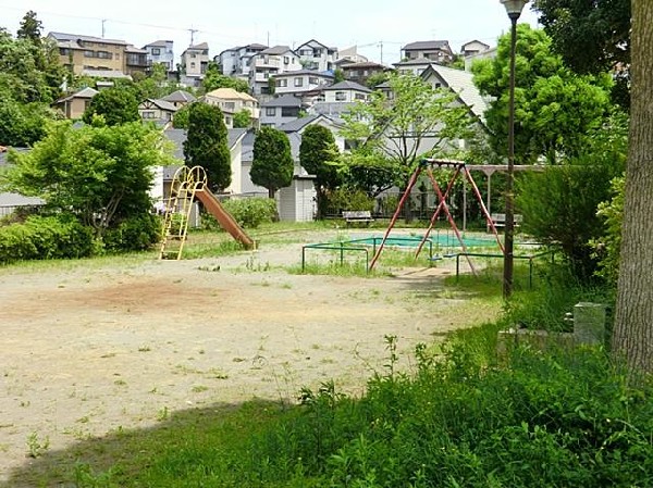
{"type": "MultiPolygon", "coordinates": [[[[402,214],[402,210],[404,209],[406,201],[410,197],[410,191],[412,190],[412,187],[415,187],[415,185],[417,184],[417,179],[418,179],[419,175],[422,173],[422,171],[426,171],[427,175],[429,176],[429,180],[431,182],[433,191],[435,191],[435,195],[438,196],[439,203],[438,203],[438,207],[435,208],[435,211],[433,212],[433,215],[431,216],[431,221],[429,223],[429,228],[417,248],[415,258],[417,259],[417,256],[421,252],[424,243],[429,239],[429,235],[431,234],[431,230],[433,230],[433,227],[435,225],[435,222],[438,221],[438,217],[440,216],[441,213],[444,213],[444,215],[446,216],[446,220],[449,223],[452,230],[454,232],[454,235],[456,236],[458,242],[460,243],[460,248],[463,249],[463,254],[467,259],[467,262],[469,263],[469,267],[470,267],[472,274],[476,276],[476,274],[477,274],[476,268],[473,267],[473,264],[471,263],[471,260],[467,253],[467,246],[465,245],[465,241],[463,240],[460,230],[458,230],[458,227],[456,226],[456,222],[454,221],[454,217],[452,216],[452,214],[449,212],[449,208],[446,203],[446,199],[447,199],[452,188],[454,187],[454,184],[456,183],[458,177],[460,177],[460,175],[463,175],[467,179],[469,185],[471,186],[473,193],[481,207],[481,211],[483,212],[483,215],[485,216],[485,220],[488,221],[488,227],[492,230],[492,234],[494,235],[496,242],[498,243],[498,248],[501,249],[502,254],[505,253],[503,242],[501,241],[501,238],[498,237],[498,233],[496,232],[496,226],[494,225],[494,221],[490,216],[490,213],[488,212],[488,209],[485,208],[485,204],[483,203],[483,198],[481,196],[481,192],[479,191],[478,186],[476,185],[473,178],[471,177],[471,173],[469,172],[465,162],[464,161],[454,161],[454,160],[436,160],[436,159],[430,159],[430,158],[422,159],[420,161],[419,165],[417,166],[417,168],[415,170],[415,172],[412,173],[412,175],[410,176],[410,179],[408,180],[408,186],[406,187],[406,191],[404,192],[404,195],[402,196],[402,199],[399,200],[399,203],[397,204],[397,209],[395,210],[395,213],[390,221],[390,225],[387,226],[387,229],[385,230],[385,235],[383,236],[381,243],[377,248],[377,252],[374,253],[374,256],[372,258],[372,261],[370,262],[369,270],[370,271],[373,270],[374,264],[377,264],[377,261],[381,256],[381,252],[383,252],[383,247],[385,246],[385,241],[387,240],[390,233],[394,228],[394,225],[396,224],[397,218],[402,214]],[[453,170],[453,172],[454,172],[448,180],[448,184],[447,184],[444,192],[442,191],[440,185],[438,184],[438,182],[435,180],[435,177],[433,176],[433,170],[453,170]]],[[[449,254],[445,254],[445,256],[452,256],[452,255],[455,255],[455,254],[452,254],[451,251],[449,251],[449,254]]],[[[433,259],[441,259],[441,258],[433,258],[433,259]]]]}

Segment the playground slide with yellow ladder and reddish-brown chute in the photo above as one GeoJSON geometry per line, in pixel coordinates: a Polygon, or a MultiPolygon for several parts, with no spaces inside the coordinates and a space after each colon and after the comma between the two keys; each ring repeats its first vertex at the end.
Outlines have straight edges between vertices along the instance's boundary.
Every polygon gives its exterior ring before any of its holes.
{"type": "Polygon", "coordinates": [[[222,207],[209,190],[207,174],[201,166],[180,167],[174,174],[170,198],[163,220],[163,236],[159,259],[182,259],[193,202],[198,199],[220,226],[243,245],[245,249],[255,247],[254,240],[245,234],[234,217],[222,207]]]}

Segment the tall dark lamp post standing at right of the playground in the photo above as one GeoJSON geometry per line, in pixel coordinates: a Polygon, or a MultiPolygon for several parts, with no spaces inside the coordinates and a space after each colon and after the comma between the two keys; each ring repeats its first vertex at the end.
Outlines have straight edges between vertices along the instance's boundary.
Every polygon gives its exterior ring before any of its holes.
{"type": "Polygon", "coordinates": [[[528,0],[500,0],[510,18],[510,85],[508,101],[508,180],[506,185],[506,224],[504,227],[504,299],[513,293],[513,263],[515,236],[515,46],[517,43],[517,20],[528,0]]]}

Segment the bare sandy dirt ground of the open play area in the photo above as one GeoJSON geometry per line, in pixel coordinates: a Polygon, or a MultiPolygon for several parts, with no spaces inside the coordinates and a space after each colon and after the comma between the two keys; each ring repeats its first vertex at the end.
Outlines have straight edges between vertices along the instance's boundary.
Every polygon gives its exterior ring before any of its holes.
{"type": "Polygon", "coordinates": [[[165,412],[293,401],[332,378],[359,395],[386,362],[385,335],[397,336],[409,367],[417,342],[486,314],[442,298],[443,268],[288,274],[300,246],[0,268],[0,481],[30,450],[145,427],[165,412]]]}

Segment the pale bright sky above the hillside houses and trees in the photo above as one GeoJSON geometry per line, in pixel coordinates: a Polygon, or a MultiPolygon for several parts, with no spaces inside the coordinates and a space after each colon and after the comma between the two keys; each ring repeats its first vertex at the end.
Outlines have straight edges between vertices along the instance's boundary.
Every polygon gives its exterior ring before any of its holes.
{"type": "MultiPolygon", "coordinates": [[[[537,26],[531,3],[519,22],[537,26]]],[[[409,42],[448,40],[458,52],[475,39],[495,46],[510,25],[500,0],[0,0],[0,27],[15,34],[29,10],[42,22],[44,35],[102,37],[103,28],[103,37],[138,48],[173,40],[177,59],[192,40],[208,42],[213,58],[251,42],[295,48],[316,39],[338,49],[357,46],[371,61],[391,65],[409,42]]]]}

